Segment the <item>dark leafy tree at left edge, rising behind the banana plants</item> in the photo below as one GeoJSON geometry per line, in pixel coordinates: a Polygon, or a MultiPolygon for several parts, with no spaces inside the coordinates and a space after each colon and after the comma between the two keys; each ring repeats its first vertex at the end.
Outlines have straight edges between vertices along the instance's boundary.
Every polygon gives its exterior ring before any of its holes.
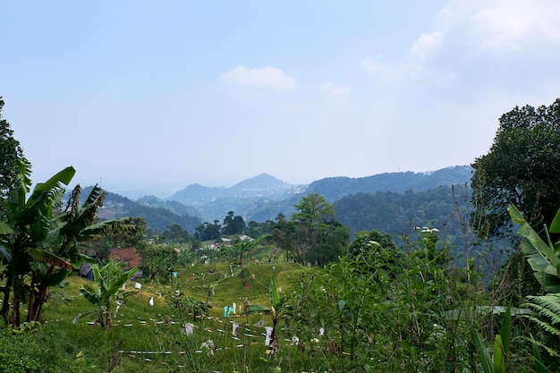
{"type": "Polygon", "coordinates": [[[18,159],[23,157],[20,142],[13,138],[10,123],[2,115],[4,100],[0,97],[0,218],[5,215],[5,199],[16,184],[18,159]]]}

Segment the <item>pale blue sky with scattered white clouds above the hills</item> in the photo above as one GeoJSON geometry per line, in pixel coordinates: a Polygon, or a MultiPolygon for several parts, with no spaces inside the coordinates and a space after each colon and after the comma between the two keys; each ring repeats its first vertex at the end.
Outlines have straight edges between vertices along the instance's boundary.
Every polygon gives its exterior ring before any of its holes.
{"type": "Polygon", "coordinates": [[[0,0],[0,34],[32,180],[123,195],[470,165],[560,97],[557,0],[0,0]]]}

